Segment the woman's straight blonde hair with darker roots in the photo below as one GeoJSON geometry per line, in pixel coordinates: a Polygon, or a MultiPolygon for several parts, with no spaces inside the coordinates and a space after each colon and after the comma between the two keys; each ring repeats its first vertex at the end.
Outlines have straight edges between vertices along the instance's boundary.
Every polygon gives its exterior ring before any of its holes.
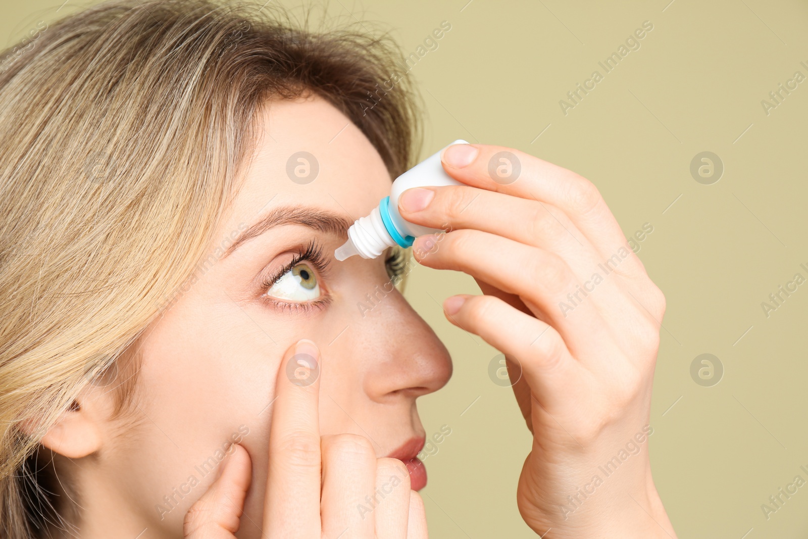
{"type": "MultiPolygon", "coordinates": [[[[314,92],[363,131],[393,177],[410,166],[420,131],[398,48],[306,24],[258,6],[127,0],[2,53],[3,537],[41,537],[44,520],[61,518],[44,514],[49,500],[32,488],[41,435],[187,285],[268,99],[314,92]]],[[[118,378],[116,413],[133,387],[118,378]]]]}

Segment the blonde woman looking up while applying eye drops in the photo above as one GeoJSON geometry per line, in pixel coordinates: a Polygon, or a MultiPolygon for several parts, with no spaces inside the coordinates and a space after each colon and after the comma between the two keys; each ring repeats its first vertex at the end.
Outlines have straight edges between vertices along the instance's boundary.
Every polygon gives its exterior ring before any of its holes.
{"type": "MultiPolygon", "coordinates": [[[[4,65],[3,537],[427,536],[415,400],[448,353],[398,292],[356,309],[402,253],[333,259],[414,164],[413,97],[385,41],[258,7],[106,3],[4,65]]],[[[673,537],[659,289],[587,180],[488,145],[443,163],[465,186],[399,211],[449,230],[419,263],[482,288],[444,310],[518,380],[524,520],[673,537]]]]}

